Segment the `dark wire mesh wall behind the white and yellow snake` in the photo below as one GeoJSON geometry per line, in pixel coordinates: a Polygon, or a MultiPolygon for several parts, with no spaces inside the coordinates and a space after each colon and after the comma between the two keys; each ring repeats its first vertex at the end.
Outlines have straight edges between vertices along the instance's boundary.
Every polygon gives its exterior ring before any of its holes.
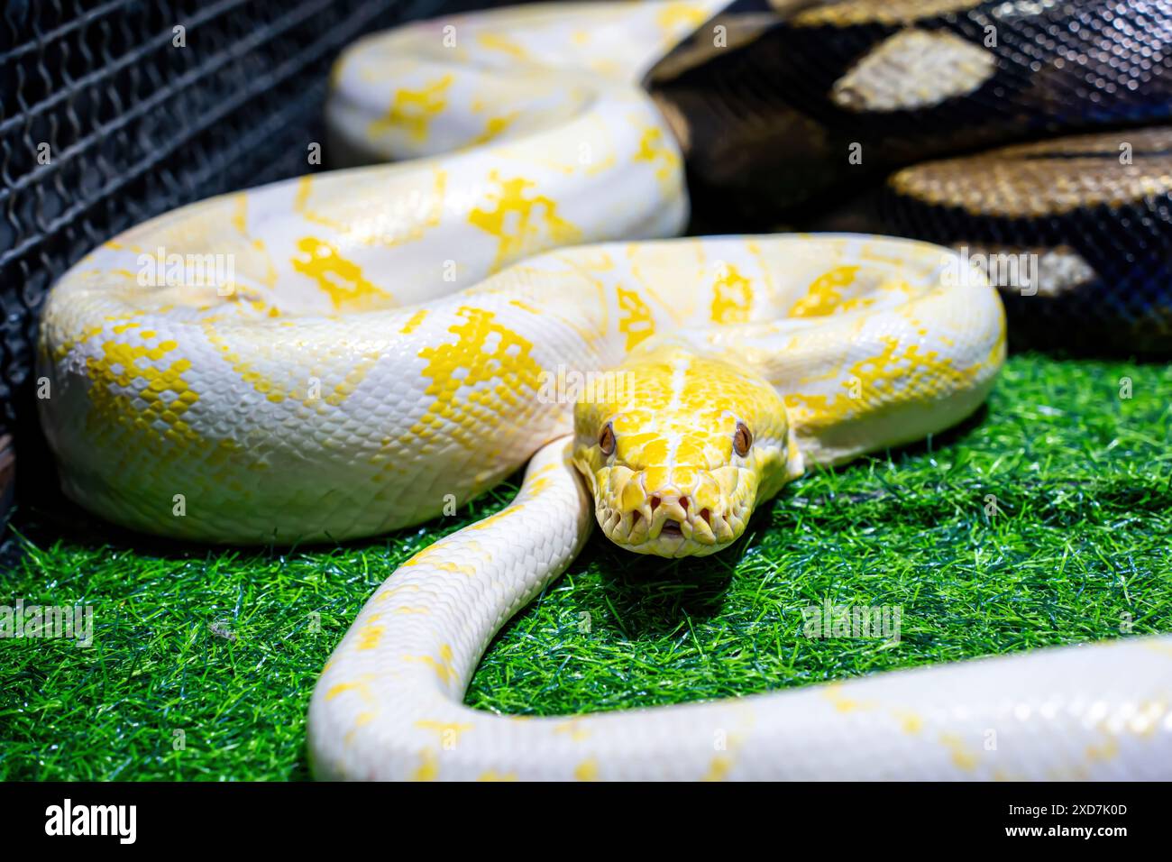
{"type": "Polygon", "coordinates": [[[73,263],[175,206],[320,170],[308,145],[325,142],[322,104],[341,48],[408,19],[492,5],[7,0],[0,433],[35,426],[36,314],[73,263]]]}

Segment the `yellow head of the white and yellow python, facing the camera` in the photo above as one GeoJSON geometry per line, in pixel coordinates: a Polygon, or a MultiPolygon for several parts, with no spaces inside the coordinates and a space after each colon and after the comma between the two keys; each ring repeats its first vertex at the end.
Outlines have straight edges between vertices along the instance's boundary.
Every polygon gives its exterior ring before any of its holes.
{"type": "Polygon", "coordinates": [[[628,358],[574,407],[574,464],[602,532],[636,554],[735,542],[786,480],[785,407],[748,368],[663,347],[628,358]]]}

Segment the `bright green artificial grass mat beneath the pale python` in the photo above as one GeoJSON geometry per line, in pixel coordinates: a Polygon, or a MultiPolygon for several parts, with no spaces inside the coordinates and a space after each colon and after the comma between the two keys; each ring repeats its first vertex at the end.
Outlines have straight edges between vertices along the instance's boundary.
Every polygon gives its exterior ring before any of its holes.
{"type": "MultiPolygon", "coordinates": [[[[640,557],[595,531],[498,636],[468,703],[614,710],[1172,631],[1170,425],[1167,366],[1016,355],[987,412],[791,484],[721,555],[640,557]],[[806,637],[803,609],[827,600],[898,606],[899,642],[806,637]]],[[[306,778],[309,694],[363,602],[515,490],[422,530],[293,551],[176,548],[19,510],[0,604],[94,605],[94,645],[0,640],[0,776],[306,778]]]]}

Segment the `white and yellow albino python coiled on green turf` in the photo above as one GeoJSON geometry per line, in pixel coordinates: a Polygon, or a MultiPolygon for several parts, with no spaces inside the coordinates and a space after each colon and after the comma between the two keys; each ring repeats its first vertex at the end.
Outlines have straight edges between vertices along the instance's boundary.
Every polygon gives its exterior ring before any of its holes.
{"type": "Polygon", "coordinates": [[[54,287],[66,493],[138,530],[288,544],[421,523],[529,463],[336,647],[309,708],[322,778],[1167,778],[1168,638],[570,719],[462,705],[594,522],[640,554],[720,551],[804,470],[955,425],[1002,365],[996,292],[939,246],[662,239],[688,215],[681,154],[633,81],[718,5],[354,46],[326,150],[410,161],[185,206],[54,287]]]}

